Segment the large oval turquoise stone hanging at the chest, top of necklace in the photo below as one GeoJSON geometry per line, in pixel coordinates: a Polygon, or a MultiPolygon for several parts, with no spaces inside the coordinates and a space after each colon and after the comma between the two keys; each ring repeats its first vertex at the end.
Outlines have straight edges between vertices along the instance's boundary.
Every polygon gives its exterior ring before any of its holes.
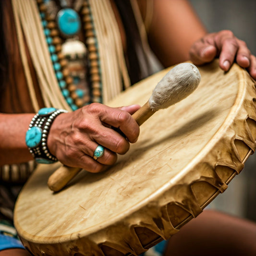
{"type": "Polygon", "coordinates": [[[81,26],[78,13],[70,8],[65,8],[58,12],[57,24],[61,33],[66,36],[77,34],[81,26]]]}

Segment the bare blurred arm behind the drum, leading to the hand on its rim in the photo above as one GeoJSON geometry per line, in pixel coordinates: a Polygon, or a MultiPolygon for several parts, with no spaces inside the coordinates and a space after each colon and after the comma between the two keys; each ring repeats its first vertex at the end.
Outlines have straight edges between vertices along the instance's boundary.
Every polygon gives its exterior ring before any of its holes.
{"type": "Polygon", "coordinates": [[[193,43],[207,31],[187,0],[153,0],[149,43],[165,67],[189,60],[193,43]]]}

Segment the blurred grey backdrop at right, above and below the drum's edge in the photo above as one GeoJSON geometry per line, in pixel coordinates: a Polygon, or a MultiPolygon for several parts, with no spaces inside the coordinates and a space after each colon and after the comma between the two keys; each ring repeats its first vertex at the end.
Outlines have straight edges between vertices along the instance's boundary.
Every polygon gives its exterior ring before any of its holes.
{"type": "MultiPolygon", "coordinates": [[[[232,30],[256,55],[256,0],[190,0],[209,33],[232,30]]],[[[211,208],[256,221],[256,153],[244,170],[210,204],[211,208]]]]}

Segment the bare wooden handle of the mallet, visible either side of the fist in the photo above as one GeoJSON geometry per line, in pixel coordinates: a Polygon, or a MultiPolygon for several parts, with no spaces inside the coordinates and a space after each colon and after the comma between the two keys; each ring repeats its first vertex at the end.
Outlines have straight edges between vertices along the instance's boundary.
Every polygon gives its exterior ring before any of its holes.
{"type": "MultiPolygon", "coordinates": [[[[132,116],[138,125],[143,124],[149,117],[151,117],[156,111],[151,110],[148,101],[139,110],[137,110],[132,116]]],[[[48,179],[49,189],[57,192],[60,191],[73,177],[81,171],[81,168],[69,167],[62,165],[56,171],[54,171],[48,179]]]]}

